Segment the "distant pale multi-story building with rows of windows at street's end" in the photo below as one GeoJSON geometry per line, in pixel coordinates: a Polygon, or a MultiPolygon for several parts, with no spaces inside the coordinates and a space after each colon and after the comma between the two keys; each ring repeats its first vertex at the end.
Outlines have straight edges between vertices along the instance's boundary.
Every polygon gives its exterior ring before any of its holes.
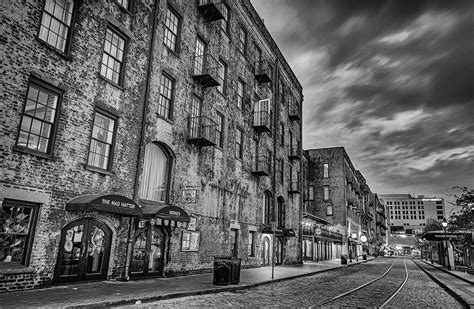
{"type": "Polygon", "coordinates": [[[428,220],[446,217],[443,198],[411,194],[380,194],[390,216],[393,234],[417,234],[428,220]]]}

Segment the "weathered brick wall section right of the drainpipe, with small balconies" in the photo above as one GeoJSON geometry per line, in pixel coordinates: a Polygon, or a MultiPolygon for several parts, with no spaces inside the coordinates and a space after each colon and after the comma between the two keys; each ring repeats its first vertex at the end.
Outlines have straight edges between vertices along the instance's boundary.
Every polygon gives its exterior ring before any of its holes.
{"type": "MultiPolygon", "coordinates": [[[[195,6],[186,5],[180,1],[170,1],[173,9],[182,17],[181,34],[178,54],[169,51],[164,45],[164,29],[159,27],[156,32],[157,48],[154,51],[152,82],[150,88],[150,113],[148,114],[146,143],[159,141],[173,149],[176,159],[173,166],[173,184],[171,203],[195,215],[198,222],[197,230],[201,232],[200,252],[189,253],[176,251],[172,256],[169,269],[173,271],[193,271],[196,268],[212,267],[213,257],[229,255],[230,224],[240,224],[239,256],[244,265],[258,265],[261,253],[250,258],[246,254],[248,230],[246,226],[260,227],[263,213],[263,192],[269,190],[275,200],[283,196],[287,204],[288,227],[298,231],[300,200],[299,197],[288,195],[286,186],[273,189],[271,177],[255,177],[251,174],[255,149],[253,138],[256,136],[252,128],[253,104],[260,98],[271,98],[275,102],[274,83],[257,86],[253,72],[250,70],[253,60],[254,42],[262,49],[265,56],[275,59],[275,54],[266,43],[267,38],[255,31],[255,25],[249,19],[240,2],[229,3],[231,9],[229,34],[220,30],[218,22],[203,21],[195,6]],[[248,52],[243,56],[236,48],[237,29],[244,25],[248,31],[248,52]],[[207,53],[216,59],[222,59],[227,64],[227,83],[225,93],[216,88],[201,89],[194,84],[191,71],[196,37],[199,35],[208,42],[207,53]],[[171,75],[176,81],[172,120],[157,116],[160,76],[162,72],[171,75]],[[250,94],[250,102],[244,104],[244,109],[237,108],[236,84],[238,78],[246,83],[250,94]],[[254,94],[256,89],[256,94],[254,94]],[[191,97],[197,95],[203,99],[202,115],[215,117],[215,112],[225,116],[224,146],[198,147],[187,142],[187,118],[190,114],[191,97]],[[235,159],[236,128],[244,131],[244,159],[235,159]],[[183,187],[194,187],[198,190],[197,201],[194,204],[182,203],[180,199],[183,187]],[[225,193],[224,193],[225,192],[225,193]]],[[[159,19],[164,21],[167,3],[160,3],[159,19]]],[[[287,78],[287,83],[291,80],[287,78]]],[[[289,122],[288,114],[281,112],[281,119],[289,122]]],[[[289,126],[289,125],[288,125],[289,126]]],[[[276,136],[276,135],[275,135],[276,136]]],[[[299,135],[298,135],[299,136],[299,135]]],[[[259,147],[269,148],[274,152],[273,138],[268,134],[260,134],[259,147]]],[[[287,139],[288,140],[288,139],[287,139]]],[[[288,145],[289,146],[289,145],[288,145]]],[[[278,148],[277,155],[288,161],[288,149],[278,148]]],[[[286,178],[289,179],[289,168],[286,168],[286,178]]],[[[178,237],[179,238],[179,237],[178,237]]],[[[298,258],[299,249],[296,240],[290,240],[287,248],[290,260],[298,258]]],[[[176,244],[179,249],[179,244],[176,244]]],[[[173,250],[171,250],[173,251],[173,250]]]]}

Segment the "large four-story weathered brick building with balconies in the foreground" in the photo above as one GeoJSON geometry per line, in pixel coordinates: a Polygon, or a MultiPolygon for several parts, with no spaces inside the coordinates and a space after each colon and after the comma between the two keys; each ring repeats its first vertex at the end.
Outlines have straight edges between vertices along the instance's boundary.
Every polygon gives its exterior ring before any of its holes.
{"type": "Polygon", "coordinates": [[[4,291],[301,261],[302,88],[250,1],[1,14],[4,291]]]}

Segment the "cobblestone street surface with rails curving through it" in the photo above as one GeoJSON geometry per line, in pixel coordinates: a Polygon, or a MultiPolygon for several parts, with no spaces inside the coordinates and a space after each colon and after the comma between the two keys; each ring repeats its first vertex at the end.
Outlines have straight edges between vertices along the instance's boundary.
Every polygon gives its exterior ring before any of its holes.
{"type": "MultiPolygon", "coordinates": [[[[143,303],[136,306],[176,308],[186,306],[318,306],[336,295],[347,292],[381,276],[394,261],[394,259],[378,259],[367,264],[360,264],[350,268],[269,284],[248,290],[169,299],[153,303],[143,303]]],[[[406,263],[409,271],[409,280],[400,294],[387,305],[388,307],[434,306],[462,308],[453,297],[435,282],[431,281],[411,260],[406,260],[406,263]]],[[[405,271],[402,260],[398,260],[396,262],[396,266],[397,265],[398,267],[394,267],[393,273],[390,272],[387,276],[396,275],[397,278],[394,280],[401,283],[403,279],[400,279],[400,271],[405,271]]],[[[396,288],[394,290],[396,290],[396,288]]],[[[362,293],[356,295],[356,297],[358,297],[358,306],[380,305],[387,298],[387,295],[377,293],[375,290],[372,290],[370,286],[361,290],[361,292],[362,293]],[[379,296],[381,298],[377,299],[379,296]]]]}

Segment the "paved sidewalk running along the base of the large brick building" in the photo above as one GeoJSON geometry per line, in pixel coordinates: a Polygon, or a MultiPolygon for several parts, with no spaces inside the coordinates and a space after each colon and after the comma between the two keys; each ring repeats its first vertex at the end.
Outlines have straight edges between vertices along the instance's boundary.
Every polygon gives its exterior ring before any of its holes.
{"type": "Polygon", "coordinates": [[[368,262],[374,259],[353,261],[349,265],[341,265],[339,259],[310,262],[302,265],[281,265],[274,269],[259,267],[242,269],[240,284],[218,286],[213,285],[213,274],[199,274],[171,278],[152,278],[142,280],[100,281],[80,284],[53,286],[22,292],[0,294],[0,307],[85,307],[134,304],[137,300],[153,301],[190,295],[217,293],[239,290],[253,286],[278,282],[287,279],[308,276],[341,267],[368,262]]]}

